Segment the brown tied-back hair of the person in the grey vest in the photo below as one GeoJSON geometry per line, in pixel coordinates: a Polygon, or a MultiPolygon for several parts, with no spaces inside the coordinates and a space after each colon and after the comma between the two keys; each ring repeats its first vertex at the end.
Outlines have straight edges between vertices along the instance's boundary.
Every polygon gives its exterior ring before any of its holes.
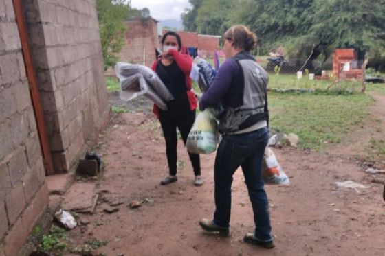
{"type": "Polygon", "coordinates": [[[225,32],[224,37],[231,41],[236,49],[250,51],[256,45],[256,35],[244,25],[234,25],[225,32]]]}

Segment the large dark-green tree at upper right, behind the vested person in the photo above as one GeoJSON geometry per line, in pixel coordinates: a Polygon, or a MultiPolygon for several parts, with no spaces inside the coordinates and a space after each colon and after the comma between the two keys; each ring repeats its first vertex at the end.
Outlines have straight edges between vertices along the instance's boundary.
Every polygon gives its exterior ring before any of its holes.
{"type": "Polygon", "coordinates": [[[304,58],[331,49],[354,47],[361,53],[384,44],[385,0],[243,0],[233,21],[251,27],[262,45],[285,45],[289,54],[304,58]]]}

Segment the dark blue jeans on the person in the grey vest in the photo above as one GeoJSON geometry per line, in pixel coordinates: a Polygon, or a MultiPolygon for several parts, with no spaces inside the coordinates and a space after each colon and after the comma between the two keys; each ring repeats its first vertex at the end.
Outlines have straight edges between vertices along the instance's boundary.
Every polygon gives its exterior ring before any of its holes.
{"type": "Polygon", "coordinates": [[[214,224],[230,226],[232,176],[241,166],[254,211],[254,234],[261,241],[272,240],[269,204],[261,178],[263,154],[268,141],[267,128],[239,135],[223,135],[214,165],[214,224]]]}

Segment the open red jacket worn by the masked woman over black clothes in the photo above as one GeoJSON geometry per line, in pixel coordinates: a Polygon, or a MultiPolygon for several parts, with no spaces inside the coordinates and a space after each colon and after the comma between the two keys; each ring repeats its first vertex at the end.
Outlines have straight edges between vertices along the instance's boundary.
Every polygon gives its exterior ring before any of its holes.
{"type": "MultiPolygon", "coordinates": [[[[192,82],[190,78],[191,68],[192,68],[192,58],[188,54],[179,54],[179,52],[175,49],[171,49],[168,51],[174,58],[174,61],[177,62],[178,67],[184,73],[184,77],[186,78],[186,93],[188,102],[190,103],[190,110],[194,110],[197,108],[197,96],[192,91],[192,82]]],[[[153,71],[156,71],[157,60],[153,63],[153,71]]],[[[154,104],[153,113],[159,119],[159,108],[154,104]]]]}

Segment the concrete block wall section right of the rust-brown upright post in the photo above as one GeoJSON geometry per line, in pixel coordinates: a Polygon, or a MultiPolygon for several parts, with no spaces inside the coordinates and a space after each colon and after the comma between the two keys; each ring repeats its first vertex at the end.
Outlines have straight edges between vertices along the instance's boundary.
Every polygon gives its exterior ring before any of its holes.
{"type": "Polygon", "coordinates": [[[67,172],[109,111],[96,1],[23,4],[54,167],[67,172]]]}

